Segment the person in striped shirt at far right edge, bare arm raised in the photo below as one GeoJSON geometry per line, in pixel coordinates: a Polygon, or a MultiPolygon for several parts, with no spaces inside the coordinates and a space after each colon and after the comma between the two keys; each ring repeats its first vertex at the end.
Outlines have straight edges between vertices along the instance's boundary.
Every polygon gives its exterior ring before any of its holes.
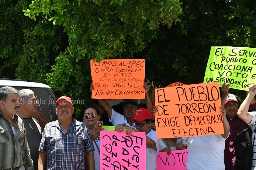
{"type": "Polygon", "coordinates": [[[239,110],[237,111],[238,117],[240,117],[245,123],[249,125],[252,129],[252,143],[254,144],[253,146],[253,158],[252,158],[252,165],[251,169],[255,170],[256,169],[256,143],[255,141],[255,132],[254,129],[256,128],[256,111],[253,112],[248,112],[251,100],[254,98],[256,94],[256,84],[252,84],[249,87],[249,93],[247,97],[244,99],[243,103],[240,105],[239,110]]]}

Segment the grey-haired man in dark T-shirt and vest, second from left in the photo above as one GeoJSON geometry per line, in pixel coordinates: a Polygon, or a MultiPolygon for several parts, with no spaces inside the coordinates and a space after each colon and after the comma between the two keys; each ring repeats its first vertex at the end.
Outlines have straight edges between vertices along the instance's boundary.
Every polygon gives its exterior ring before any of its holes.
{"type": "Polygon", "coordinates": [[[34,162],[34,170],[37,170],[39,157],[39,144],[42,138],[42,130],[39,122],[31,117],[34,112],[37,112],[38,102],[35,94],[30,89],[19,90],[19,114],[26,128],[26,137],[29,143],[31,158],[34,162]]]}

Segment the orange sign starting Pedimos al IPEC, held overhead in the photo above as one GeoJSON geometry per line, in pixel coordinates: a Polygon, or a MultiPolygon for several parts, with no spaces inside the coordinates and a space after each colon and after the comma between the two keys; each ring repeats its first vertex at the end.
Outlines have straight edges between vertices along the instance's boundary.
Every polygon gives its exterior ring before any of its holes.
{"type": "Polygon", "coordinates": [[[144,99],[145,60],[91,60],[93,99],[144,99]]]}

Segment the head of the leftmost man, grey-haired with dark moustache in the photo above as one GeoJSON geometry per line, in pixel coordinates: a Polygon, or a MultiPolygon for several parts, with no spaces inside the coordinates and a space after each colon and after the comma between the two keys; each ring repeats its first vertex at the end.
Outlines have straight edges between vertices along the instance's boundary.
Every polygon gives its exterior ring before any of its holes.
{"type": "Polygon", "coordinates": [[[1,100],[1,107],[5,114],[17,114],[19,110],[19,94],[8,94],[6,101],[1,100]]]}

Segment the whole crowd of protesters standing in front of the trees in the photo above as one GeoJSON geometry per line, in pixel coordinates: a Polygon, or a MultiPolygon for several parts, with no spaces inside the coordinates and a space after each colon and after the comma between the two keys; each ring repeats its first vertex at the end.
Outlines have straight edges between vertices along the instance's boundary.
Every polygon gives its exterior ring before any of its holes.
{"type": "MultiPolygon", "coordinates": [[[[157,139],[154,114],[157,106],[149,96],[149,86],[144,83],[146,104],[140,107],[133,100],[120,104],[119,111],[106,100],[85,107],[83,121],[72,117],[74,106],[70,97],[57,99],[58,120],[42,128],[31,117],[38,102],[32,90],[0,88],[0,170],[99,170],[100,129],[97,122],[115,126],[115,131],[131,135],[146,134],[146,170],[157,168],[158,152],[170,154],[177,149],[187,149],[187,170],[226,169],[237,170],[235,141],[237,134],[251,127],[256,128],[256,84],[249,87],[247,97],[238,109],[236,95],[229,93],[230,83],[221,87],[220,112],[223,115],[223,134],[157,139]],[[119,113],[122,112],[122,113],[119,113]]],[[[90,90],[94,89],[93,84],[90,90]]],[[[101,131],[106,131],[102,128],[101,131]]],[[[255,132],[252,134],[252,142],[255,132]]],[[[256,145],[256,143],[255,143],[256,145]]],[[[255,146],[254,145],[254,146],[255,146]]],[[[256,147],[251,169],[256,169],[256,147]]]]}

